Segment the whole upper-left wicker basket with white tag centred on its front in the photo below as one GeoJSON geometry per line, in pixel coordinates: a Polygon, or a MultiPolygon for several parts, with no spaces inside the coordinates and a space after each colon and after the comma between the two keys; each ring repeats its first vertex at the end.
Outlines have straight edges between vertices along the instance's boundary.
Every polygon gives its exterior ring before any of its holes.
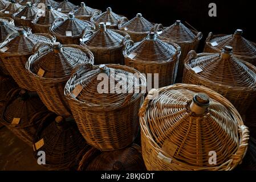
{"type": "Polygon", "coordinates": [[[80,38],[87,29],[94,31],[94,24],[87,20],[77,19],[74,14],[69,14],[68,19],[56,19],[50,27],[50,32],[62,44],[79,44],[80,38]],[[71,32],[71,35],[67,35],[67,32],[71,32]]]}

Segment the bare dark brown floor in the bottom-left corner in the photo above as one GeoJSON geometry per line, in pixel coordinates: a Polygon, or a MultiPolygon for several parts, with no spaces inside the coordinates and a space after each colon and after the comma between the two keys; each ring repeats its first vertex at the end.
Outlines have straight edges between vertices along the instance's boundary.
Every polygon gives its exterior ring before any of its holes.
{"type": "Polygon", "coordinates": [[[42,171],[32,156],[32,148],[7,127],[0,126],[0,170],[42,171]]]}

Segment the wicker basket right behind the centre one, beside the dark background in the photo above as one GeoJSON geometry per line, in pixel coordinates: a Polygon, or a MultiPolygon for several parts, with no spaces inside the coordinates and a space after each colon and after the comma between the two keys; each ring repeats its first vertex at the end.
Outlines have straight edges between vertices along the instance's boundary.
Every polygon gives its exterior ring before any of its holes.
{"type": "Polygon", "coordinates": [[[185,27],[180,20],[176,20],[176,23],[165,28],[164,30],[161,30],[161,28],[157,29],[155,27],[153,29],[156,29],[156,32],[159,34],[160,38],[170,40],[181,47],[181,56],[178,65],[178,77],[182,77],[186,55],[191,50],[197,50],[198,44],[202,39],[202,32],[190,30],[189,28],[185,27]]]}

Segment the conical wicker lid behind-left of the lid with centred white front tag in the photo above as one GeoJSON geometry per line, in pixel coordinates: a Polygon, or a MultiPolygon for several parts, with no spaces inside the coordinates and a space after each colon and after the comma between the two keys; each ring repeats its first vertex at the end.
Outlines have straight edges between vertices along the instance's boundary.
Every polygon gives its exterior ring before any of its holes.
{"type": "Polygon", "coordinates": [[[39,16],[34,20],[36,24],[50,26],[57,18],[68,18],[66,14],[60,13],[54,10],[51,5],[47,5],[47,9],[44,16],[39,16]]]}

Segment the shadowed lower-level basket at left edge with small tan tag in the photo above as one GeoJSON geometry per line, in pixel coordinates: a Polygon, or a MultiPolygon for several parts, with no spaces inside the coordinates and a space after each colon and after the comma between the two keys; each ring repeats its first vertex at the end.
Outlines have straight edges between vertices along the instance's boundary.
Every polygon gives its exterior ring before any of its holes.
{"type": "Polygon", "coordinates": [[[17,89],[6,102],[1,113],[1,123],[7,126],[17,137],[32,145],[39,123],[47,113],[35,92],[17,89]],[[19,119],[19,123],[14,122],[19,119]]]}

